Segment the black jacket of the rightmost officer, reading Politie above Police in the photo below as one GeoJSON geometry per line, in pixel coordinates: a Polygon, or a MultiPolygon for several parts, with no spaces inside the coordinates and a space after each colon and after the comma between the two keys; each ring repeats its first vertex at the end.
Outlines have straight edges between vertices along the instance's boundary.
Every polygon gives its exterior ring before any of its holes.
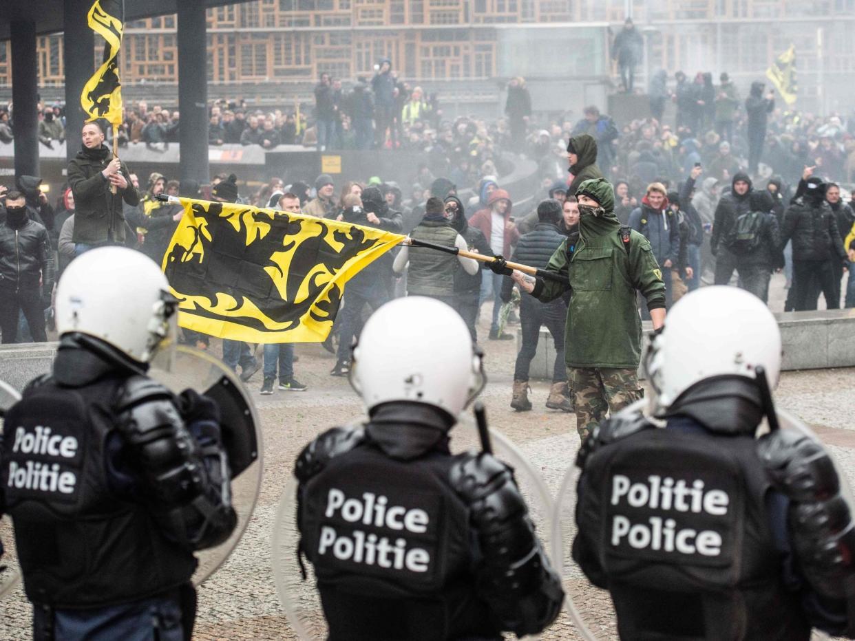
{"type": "Polygon", "coordinates": [[[573,558],[610,591],[621,638],[810,638],[754,438],[640,421],[603,426],[578,485],[573,558]]]}

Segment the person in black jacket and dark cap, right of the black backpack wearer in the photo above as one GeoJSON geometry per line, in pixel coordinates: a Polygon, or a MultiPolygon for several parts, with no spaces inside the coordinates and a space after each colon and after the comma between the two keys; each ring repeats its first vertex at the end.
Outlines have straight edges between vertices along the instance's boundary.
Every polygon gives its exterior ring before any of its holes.
{"type": "Polygon", "coordinates": [[[799,183],[797,197],[784,213],[781,249],[793,238],[794,306],[797,312],[817,309],[823,291],[828,309],[840,307],[840,288],[834,286],[832,262],[846,258],[834,213],[825,202],[822,179],[811,176],[799,183]]]}

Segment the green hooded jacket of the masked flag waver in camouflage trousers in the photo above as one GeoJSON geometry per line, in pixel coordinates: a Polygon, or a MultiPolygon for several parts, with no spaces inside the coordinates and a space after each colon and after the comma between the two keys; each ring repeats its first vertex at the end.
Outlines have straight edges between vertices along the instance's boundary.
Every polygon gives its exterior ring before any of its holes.
{"type": "Polygon", "coordinates": [[[567,243],[552,254],[546,269],[566,283],[538,280],[532,295],[548,303],[570,290],[564,329],[564,360],[569,368],[638,368],[641,358],[641,319],[635,292],[648,309],[665,307],[662,272],[650,243],[629,232],[624,245],[615,215],[615,194],[604,178],[586,180],[576,191],[594,198],[603,215],[581,215],[579,240],[572,257],[567,243]]]}

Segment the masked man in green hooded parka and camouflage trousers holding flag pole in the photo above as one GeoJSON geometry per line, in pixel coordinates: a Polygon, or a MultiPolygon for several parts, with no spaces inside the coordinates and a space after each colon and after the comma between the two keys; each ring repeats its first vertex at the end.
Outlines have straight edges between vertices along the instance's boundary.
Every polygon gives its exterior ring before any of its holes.
{"type": "MultiPolygon", "coordinates": [[[[604,178],[584,181],[579,200],[579,239],[565,240],[547,271],[564,282],[514,271],[516,284],[543,303],[570,290],[564,358],[575,393],[576,429],[584,440],[604,419],[641,397],[637,370],[641,320],[635,292],[646,298],[654,329],[665,319],[665,285],[650,243],[622,227],[615,194],[604,178]]],[[[501,261],[491,268],[504,268],[501,261]]]]}

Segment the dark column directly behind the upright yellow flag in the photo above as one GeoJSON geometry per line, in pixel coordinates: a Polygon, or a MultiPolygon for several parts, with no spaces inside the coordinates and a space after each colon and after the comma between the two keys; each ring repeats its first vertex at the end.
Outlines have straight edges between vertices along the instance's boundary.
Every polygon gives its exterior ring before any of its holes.
{"type": "Polygon", "coordinates": [[[86,23],[90,0],[65,0],[64,4],[62,57],[65,61],[65,150],[66,157],[71,160],[80,151],[80,131],[86,120],[80,108],[80,91],[83,91],[83,85],[96,69],[95,32],[86,23]]]}

